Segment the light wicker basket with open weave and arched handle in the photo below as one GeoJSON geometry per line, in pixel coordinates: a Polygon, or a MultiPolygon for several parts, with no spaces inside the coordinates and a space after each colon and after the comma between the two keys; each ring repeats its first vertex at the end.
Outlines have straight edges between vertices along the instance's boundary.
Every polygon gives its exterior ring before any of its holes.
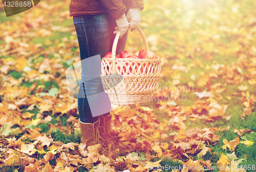
{"type": "MultiPolygon", "coordinates": [[[[149,51],[144,33],[137,29],[143,39],[145,50],[149,51]]],[[[159,85],[160,58],[132,59],[115,58],[120,33],[116,34],[112,58],[101,60],[101,81],[112,104],[127,105],[152,100],[159,85]]]]}

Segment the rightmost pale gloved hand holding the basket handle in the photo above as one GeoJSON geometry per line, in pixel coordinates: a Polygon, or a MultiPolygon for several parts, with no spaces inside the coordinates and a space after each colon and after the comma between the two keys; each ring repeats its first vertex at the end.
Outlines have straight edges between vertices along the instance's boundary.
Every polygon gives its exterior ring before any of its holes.
{"type": "Polygon", "coordinates": [[[130,22],[129,28],[134,31],[140,26],[140,7],[131,8],[126,14],[127,21],[130,22]]]}

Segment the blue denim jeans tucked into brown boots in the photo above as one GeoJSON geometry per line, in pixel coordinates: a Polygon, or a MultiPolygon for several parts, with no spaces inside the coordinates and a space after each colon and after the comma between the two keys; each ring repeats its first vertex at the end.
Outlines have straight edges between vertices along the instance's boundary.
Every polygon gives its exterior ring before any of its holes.
{"type": "MultiPolygon", "coordinates": [[[[82,60],[98,54],[102,58],[106,53],[112,51],[113,41],[116,36],[113,32],[117,25],[110,14],[74,16],[73,22],[77,33],[82,66],[79,95],[84,94],[82,98],[78,97],[78,113],[81,122],[93,123],[97,121],[98,117],[92,116],[87,95],[94,94],[94,98],[100,100],[100,97],[97,97],[97,93],[104,91],[101,79],[98,77],[101,74],[101,61],[98,61],[99,65],[97,67],[92,67],[82,60]],[[89,79],[90,81],[88,81],[89,79]]],[[[120,54],[124,50],[127,33],[118,40],[116,54],[120,54]]],[[[106,103],[110,104],[110,102],[106,103]]],[[[104,116],[108,114],[104,114],[104,116]]]]}

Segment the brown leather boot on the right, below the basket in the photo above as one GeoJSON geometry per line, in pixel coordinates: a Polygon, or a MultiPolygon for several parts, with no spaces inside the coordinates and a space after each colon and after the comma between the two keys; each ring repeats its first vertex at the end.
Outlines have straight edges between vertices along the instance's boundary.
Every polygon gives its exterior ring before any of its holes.
{"type": "Polygon", "coordinates": [[[103,146],[115,150],[118,148],[117,141],[110,133],[110,122],[111,122],[111,114],[107,116],[98,116],[100,119],[99,124],[99,133],[101,138],[104,140],[103,146]]]}

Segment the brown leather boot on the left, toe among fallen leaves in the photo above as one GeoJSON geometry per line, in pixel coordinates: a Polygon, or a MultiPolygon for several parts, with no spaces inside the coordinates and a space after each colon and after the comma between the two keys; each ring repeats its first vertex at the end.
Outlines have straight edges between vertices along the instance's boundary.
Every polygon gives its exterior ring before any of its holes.
{"type": "MultiPolygon", "coordinates": [[[[104,140],[99,134],[99,124],[100,119],[98,119],[94,123],[83,123],[80,121],[80,128],[81,128],[81,142],[86,143],[87,146],[92,146],[95,144],[103,144],[104,140]]],[[[102,147],[99,150],[99,154],[104,154],[106,157],[109,155],[109,151],[102,147]]]]}

